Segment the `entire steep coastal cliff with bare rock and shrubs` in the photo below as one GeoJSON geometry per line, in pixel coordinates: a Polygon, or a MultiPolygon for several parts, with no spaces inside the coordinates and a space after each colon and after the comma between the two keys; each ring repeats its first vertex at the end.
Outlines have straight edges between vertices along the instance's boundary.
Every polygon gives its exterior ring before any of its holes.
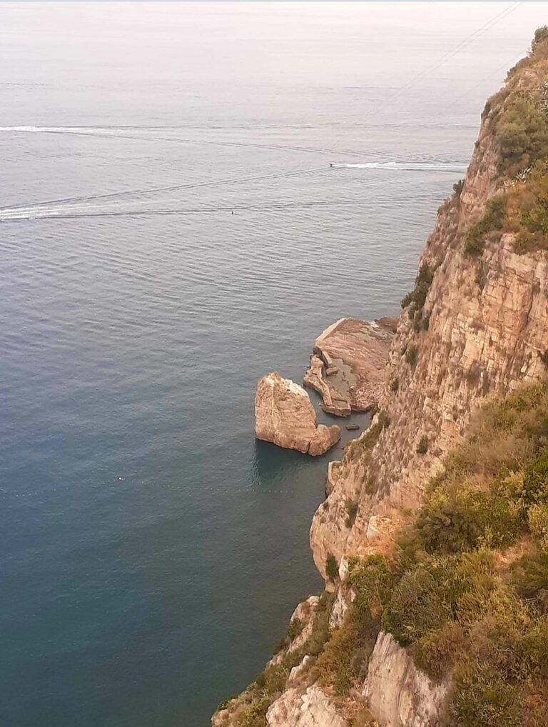
{"type": "Polygon", "coordinates": [[[547,108],[541,28],[438,211],[371,425],[329,465],[326,591],[214,727],[547,724],[547,108]]]}

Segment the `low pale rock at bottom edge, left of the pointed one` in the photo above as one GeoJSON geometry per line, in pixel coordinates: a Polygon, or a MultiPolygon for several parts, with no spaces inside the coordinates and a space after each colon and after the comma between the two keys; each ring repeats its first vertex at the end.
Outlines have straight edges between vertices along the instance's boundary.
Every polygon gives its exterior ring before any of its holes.
{"type": "Polygon", "coordinates": [[[267,712],[267,727],[347,727],[334,702],[315,684],[289,688],[267,712]]]}

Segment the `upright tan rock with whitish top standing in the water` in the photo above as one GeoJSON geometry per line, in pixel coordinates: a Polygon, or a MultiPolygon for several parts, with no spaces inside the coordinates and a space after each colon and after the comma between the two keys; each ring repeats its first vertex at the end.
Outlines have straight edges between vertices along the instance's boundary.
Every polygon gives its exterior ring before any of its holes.
{"type": "Polygon", "coordinates": [[[341,437],[339,427],[318,426],[306,391],[274,371],[257,384],[255,435],[286,449],[324,454],[341,437]]]}

